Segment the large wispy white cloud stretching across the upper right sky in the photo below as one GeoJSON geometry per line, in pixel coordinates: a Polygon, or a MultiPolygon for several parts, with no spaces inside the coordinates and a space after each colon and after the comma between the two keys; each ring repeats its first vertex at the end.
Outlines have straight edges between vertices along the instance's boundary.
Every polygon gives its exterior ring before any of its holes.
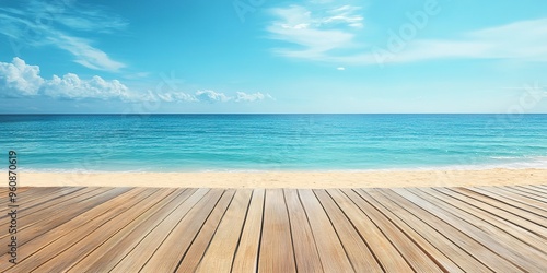
{"type": "Polygon", "coordinates": [[[272,48],[287,58],[345,66],[432,59],[547,60],[547,19],[470,29],[453,34],[454,38],[404,39],[391,32],[387,40],[362,43],[366,26],[360,7],[309,1],[305,7],[286,5],[270,12],[276,19],[266,28],[267,37],[288,43],[272,48]],[[403,46],[392,48],[394,44],[403,46]]]}

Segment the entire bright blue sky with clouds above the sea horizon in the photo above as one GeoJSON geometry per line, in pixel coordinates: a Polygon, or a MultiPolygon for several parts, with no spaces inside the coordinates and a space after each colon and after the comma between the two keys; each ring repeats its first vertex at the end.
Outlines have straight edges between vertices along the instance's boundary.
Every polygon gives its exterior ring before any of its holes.
{"type": "Polygon", "coordinates": [[[542,0],[2,0],[0,112],[547,112],[542,0]]]}

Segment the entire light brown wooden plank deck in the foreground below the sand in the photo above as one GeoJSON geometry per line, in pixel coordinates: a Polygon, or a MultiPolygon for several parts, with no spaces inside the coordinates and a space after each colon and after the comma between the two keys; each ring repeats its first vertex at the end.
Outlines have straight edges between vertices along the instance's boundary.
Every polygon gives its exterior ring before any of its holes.
{"type": "Polygon", "coordinates": [[[547,186],[30,188],[18,204],[1,272],[547,272],[547,186]]]}

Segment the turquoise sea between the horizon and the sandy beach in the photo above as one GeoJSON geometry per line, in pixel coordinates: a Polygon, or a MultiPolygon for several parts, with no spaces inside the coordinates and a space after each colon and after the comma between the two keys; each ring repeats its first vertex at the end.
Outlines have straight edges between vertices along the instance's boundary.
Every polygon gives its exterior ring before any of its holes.
{"type": "Polygon", "coordinates": [[[547,115],[0,116],[0,140],[26,170],[547,167],[547,115]]]}

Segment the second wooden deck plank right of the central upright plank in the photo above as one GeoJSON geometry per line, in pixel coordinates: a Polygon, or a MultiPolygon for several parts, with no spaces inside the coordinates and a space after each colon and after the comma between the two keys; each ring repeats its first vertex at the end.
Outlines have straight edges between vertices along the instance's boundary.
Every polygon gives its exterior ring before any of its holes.
{"type": "Polygon", "coordinates": [[[312,190],[299,190],[325,272],[353,272],[333,223],[312,190]]]}

